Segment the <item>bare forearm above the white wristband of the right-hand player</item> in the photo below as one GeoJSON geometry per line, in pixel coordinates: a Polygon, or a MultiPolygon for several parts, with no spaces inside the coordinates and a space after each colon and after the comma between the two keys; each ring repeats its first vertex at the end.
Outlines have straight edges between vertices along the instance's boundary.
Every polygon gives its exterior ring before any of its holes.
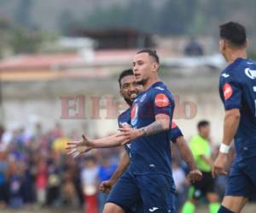
{"type": "Polygon", "coordinates": [[[236,135],[236,130],[240,122],[239,109],[231,109],[225,112],[224,117],[224,138],[223,143],[230,146],[231,141],[236,135]]]}

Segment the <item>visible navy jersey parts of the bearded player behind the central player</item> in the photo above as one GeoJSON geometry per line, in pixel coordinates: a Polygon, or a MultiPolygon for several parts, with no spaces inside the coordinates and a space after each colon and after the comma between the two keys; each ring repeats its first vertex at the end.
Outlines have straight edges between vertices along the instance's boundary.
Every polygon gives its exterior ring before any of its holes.
{"type": "MultiPolygon", "coordinates": [[[[129,124],[129,125],[131,125],[131,108],[126,109],[125,112],[122,112],[119,115],[118,122],[119,122],[119,127],[120,127],[120,124],[122,124],[122,125],[129,124]]],[[[179,129],[177,124],[174,121],[172,121],[171,141],[173,143],[175,143],[179,136],[183,136],[183,133],[179,129]]],[[[125,150],[129,155],[130,155],[130,147],[131,147],[131,144],[126,144],[125,145],[125,150]]],[[[130,155],[130,157],[131,157],[131,155],[130,155]]]]}

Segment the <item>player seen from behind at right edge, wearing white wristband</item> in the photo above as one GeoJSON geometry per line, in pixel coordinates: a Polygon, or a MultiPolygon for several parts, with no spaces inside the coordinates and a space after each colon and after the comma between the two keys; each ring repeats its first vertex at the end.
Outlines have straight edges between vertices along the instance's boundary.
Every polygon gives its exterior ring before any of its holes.
{"type": "Polygon", "coordinates": [[[247,199],[256,194],[256,64],[247,58],[247,35],[241,24],[220,26],[219,47],[229,66],[219,79],[225,108],[224,136],[212,175],[227,174],[227,156],[234,138],[236,158],[218,212],[241,212],[247,199]]]}

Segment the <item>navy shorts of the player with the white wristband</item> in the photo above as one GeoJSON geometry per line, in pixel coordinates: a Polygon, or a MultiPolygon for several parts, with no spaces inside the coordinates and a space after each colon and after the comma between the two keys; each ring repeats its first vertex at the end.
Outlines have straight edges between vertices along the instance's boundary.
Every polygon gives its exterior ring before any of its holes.
{"type": "Polygon", "coordinates": [[[241,196],[255,199],[256,194],[256,158],[244,163],[232,164],[228,177],[225,196],[241,196]]]}

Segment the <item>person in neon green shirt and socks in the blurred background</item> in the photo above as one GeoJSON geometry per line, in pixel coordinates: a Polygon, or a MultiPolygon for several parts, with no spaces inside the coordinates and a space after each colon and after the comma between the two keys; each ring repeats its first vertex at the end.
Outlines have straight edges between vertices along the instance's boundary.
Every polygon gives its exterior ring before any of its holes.
{"type": "Polygon", "coordinates": [[[217,213],[218,195],[214,192],[214,179],[212,178],[212,158],[209,141],[210,124],[201,120],[197,124],[198,135],[195,135],[189,143],[189,147],[195,158],[197,168],[202,172],[201,181],[195,182],[189,187],[189,200],[183,204],[182,213],[194,213],[195,204],[201,197],[206,197],[209,202],[209,212],[217,213]]]}

